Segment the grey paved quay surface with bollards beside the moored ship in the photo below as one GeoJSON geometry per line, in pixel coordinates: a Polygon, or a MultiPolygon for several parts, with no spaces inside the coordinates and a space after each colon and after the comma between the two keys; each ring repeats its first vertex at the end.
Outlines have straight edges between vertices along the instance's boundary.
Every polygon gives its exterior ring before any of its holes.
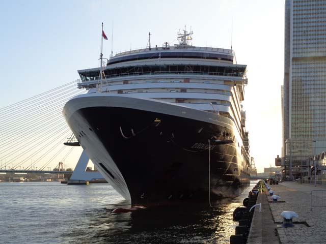
{"type": "Polygon", "coordinates": [[[256,207],[247,243],[325,243],[326,194],[316,197],[318,206],[311,208],[310,193],[314,190],[326,191],[326,187],[297,182],[283,182],[270,187],[275,195],[281,197],[281,202],[273,203],[268,192],[258,196],[257,203],[262,203],[262,211],[259,212],[256,207]],[[298,214],[299,218],[293,219],[294,227],[282,227],[283,211],[298,214]]]}

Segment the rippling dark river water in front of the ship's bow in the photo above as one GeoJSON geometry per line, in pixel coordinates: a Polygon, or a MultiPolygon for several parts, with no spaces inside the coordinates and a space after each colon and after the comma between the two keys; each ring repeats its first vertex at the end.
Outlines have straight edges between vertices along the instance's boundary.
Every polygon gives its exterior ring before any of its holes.
{"type": "Polygon", "coordinates": [[[248,192],[209,204],[130,207],[108,184],[0,183],[0,243],[230,243],[248,192]]]}

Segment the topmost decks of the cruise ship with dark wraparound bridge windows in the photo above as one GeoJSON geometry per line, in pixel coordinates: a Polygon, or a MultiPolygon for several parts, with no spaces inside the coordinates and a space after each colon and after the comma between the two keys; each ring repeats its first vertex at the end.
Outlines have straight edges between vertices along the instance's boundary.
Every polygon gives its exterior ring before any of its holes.
{"type": "MultiPolygon", "coordinates": [[[[246,65],[234,64],[231,49],[168,46],[130,50],[116,54],[103,67],[105,79],[144,75],[200,75],[243,78],[246,65]]],[[[85,85],[99,80],[100,68],[78,70],[85,85]]],[[[187,78],[187,77],[185,77],[187,78]]]]}

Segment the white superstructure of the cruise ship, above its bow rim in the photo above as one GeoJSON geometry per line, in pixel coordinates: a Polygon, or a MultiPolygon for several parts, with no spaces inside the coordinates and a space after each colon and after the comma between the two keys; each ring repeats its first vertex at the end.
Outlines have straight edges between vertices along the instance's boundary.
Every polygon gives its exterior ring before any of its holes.
{"type": "MultiPolygon", "coordinates": [[[[245,112],[240,103],[248,82],[247,66],[235,64],[233,50],[191,46],[189,37],[184,32],[179,34],[180,44],[176,46],[164,43],[162,47],[126,51],[110,58],[103,68],[101,92],[218,112],[231,118],[239,135],[244,135],[245,112]]],[[[78,87],[96,93],[99,68],[78,73],[78,87]]]]}

